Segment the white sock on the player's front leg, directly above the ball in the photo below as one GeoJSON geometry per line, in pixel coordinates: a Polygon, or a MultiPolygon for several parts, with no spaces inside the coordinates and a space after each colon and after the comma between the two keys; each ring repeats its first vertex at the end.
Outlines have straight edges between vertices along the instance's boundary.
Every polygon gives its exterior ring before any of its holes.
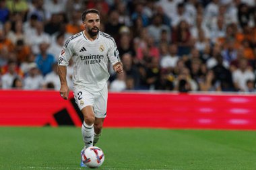
{"type": "Polygon", "coordinates": [[[94,124],[88,125],[86,122],[82,124],[82,136],[86,148],[92,146],[94,141],[94,124]]]}

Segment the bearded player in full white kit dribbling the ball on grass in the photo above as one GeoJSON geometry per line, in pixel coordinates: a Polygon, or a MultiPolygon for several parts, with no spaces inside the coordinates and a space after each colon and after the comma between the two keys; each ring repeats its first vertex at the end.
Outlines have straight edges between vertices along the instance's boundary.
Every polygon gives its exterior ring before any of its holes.
{"type": "MultiPolygon", "coordinates": [[[[108,97],[108,60],[117,73],[123,73],[123,64],[113,37],[100,32],[100,13],[86,9],[82,13],[85,30],[65,41],[58,59],[58,73],[61,81],[61,97],[67,99],[67,65],[73,60],[73,93],[75,101],[84,116],[82,136],[84,149],[98,142],[106,118],[108,97]]],[[[82,150],[82,153],[84,151],[82,150]]],[[[81,166],[84,166],[83,163],[81,166]]]]}

